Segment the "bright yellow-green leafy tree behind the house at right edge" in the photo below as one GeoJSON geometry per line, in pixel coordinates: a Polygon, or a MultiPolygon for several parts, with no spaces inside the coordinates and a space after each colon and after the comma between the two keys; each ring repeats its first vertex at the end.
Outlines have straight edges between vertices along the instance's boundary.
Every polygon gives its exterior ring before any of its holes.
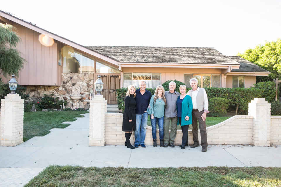
{"type": "Polygon", "coordinates": [[[268,70],[269,76],[257,76],[257,82],[273,81],[273,79],[281,79],[281,39],[277,41],[265,41],[265,44],[259,44],[255,49],[247,49],[244,53],[238,53],[250,62],[268,70]]]}

